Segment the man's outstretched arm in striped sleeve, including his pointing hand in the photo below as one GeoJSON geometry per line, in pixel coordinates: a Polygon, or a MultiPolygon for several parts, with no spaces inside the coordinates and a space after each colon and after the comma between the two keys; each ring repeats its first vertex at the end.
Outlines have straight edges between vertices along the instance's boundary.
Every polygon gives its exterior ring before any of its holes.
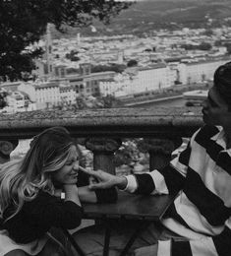
{"type": "MultiPolygon", "coordinates": [[[[194,141],[195,136],[192,137],[191,142],[194,141]]],[[[80,166],[80,170],[97,179],[98,183],[89,185],[91,190],[117,186],[119,189],[131,193],[175,194],[184,185],[190,157],[191,143],[178,158],[160,170],[127,176],[115,176],[102,170],[85,169],[82,166],[80,166]]]]}

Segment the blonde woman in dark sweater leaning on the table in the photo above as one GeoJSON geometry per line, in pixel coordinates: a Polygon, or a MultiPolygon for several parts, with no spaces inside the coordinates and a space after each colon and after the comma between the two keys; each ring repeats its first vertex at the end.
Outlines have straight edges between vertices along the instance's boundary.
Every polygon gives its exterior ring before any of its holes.
{"type": "Polygon", "coordinates": [[[0,256],[63,255],[49,229],[81,224],[80,197],[100,196],[77,184],[79,153],[69,132],[49,128],[30,143],[23,160],[0,167],[0,256]],[[56,253],[56,254],[55,254],[56,253]]]}

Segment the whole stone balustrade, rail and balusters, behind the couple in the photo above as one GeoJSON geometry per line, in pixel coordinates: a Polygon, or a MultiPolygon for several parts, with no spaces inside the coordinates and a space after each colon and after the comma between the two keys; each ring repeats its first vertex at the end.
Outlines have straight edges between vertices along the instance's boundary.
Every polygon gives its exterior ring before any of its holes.
{"type": "Polygon", "coordinates": [[[0,115],[0,152],[10,154],[14,140],[29,139],[45,128],[66,127],[93,153],[93,167],[115,173],[114,153],[124,138],[143,138],[150,168],[166,164],[202,126],[200,108],[110,108],[79,111],[33,111],[0,115]]]}

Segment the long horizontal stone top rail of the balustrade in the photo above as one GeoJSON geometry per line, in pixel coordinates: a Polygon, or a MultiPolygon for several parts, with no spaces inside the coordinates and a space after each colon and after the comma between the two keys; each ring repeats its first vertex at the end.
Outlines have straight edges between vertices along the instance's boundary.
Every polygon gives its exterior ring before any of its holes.
{"type": "Polygon", "coordinates": [[[75,137],[188,137],[202,126],[202,113],[198,107],[137,107],[1,114],[0,139],[30,138],[51,126],[65,126],[75,137]]]}

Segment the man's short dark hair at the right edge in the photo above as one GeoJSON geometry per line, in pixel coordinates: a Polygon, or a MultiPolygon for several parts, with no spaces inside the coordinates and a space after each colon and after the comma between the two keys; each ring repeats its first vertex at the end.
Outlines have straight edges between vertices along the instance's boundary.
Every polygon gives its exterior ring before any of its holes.
{"type": "Polygon", "coordinates": [[[214,73],[214,87],[231,108],[231,62],[217,68],[214,73]]]}

